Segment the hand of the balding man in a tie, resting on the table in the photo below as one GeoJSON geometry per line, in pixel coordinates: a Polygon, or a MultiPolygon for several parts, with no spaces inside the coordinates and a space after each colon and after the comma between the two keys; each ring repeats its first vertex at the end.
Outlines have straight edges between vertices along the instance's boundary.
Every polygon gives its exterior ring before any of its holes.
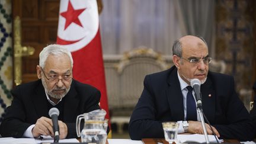
{"type": "MultiPolygon", "coordinates": [[[[215,132],[217,137],[220,137],[219,132],[212,126],[213,131],[215,132]]],[[[204,134],[203,127],[200,121],[188,121],[188,132],[189,133],[198,133],[204,134]]],[[[210,129],[209,124],[206,123],[206,132],[208,135],[213,135],[212,130],[210,129]]]]}

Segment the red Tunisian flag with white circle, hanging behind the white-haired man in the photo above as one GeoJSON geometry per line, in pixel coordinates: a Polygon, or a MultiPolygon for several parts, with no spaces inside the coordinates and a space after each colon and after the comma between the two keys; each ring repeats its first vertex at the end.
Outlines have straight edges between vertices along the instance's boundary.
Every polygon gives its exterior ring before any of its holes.
{"type": "Polygon", "coordinates": [[[72,53],[73,78],[100,90],[100,106],[109,119],[96,0],[60,1],[57,44],[72,53]]]}

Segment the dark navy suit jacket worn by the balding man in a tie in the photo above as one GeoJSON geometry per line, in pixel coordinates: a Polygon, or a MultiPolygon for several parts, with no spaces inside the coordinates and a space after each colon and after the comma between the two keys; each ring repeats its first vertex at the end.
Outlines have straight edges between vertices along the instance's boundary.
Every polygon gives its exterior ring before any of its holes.
{"type": "MultiPolygon", "coordinates": [[[[207,81],[201,85],[201,94],[204,114],[220,138],[252,139],[252,120],[235,93],[232,76],[209,72],[207,81]]],[[[161,123],[180,120],[184,120],[184,106],[177,68],[147,75],[130,118],[130,137],[135,140],[164,137],[161,123]]]]}

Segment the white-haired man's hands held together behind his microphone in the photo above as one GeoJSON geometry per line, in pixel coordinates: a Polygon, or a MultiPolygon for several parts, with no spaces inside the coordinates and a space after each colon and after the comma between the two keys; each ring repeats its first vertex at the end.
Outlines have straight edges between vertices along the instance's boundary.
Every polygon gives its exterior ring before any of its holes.
{"type": "MultiPolygon", "coordinates": [[[[58,120],[58,125],[60,139],[65,139],[68,135],[68,127],[60,120],[58,120]]],[[[39,137],[41,135],[53,137],[54,133],[52,119],[49,119],[47,117],[40,117],[40,119],[37,120],[35,126],[32,129],[32,134],[34,137],[39,137]]]]}

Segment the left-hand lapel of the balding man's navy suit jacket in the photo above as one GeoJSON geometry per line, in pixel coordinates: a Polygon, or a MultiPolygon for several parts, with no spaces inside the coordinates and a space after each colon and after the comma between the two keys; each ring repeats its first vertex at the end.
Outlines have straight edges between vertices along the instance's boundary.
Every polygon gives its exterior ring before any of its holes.
{"type": "Polygon", "coordinates": [[[166,91],[171,117],[177,120],[184,120],[183,95],[181,93],[180,82],[178,81],[177,69],[171,71],[168,78],[169,87],[166,91]]]}

